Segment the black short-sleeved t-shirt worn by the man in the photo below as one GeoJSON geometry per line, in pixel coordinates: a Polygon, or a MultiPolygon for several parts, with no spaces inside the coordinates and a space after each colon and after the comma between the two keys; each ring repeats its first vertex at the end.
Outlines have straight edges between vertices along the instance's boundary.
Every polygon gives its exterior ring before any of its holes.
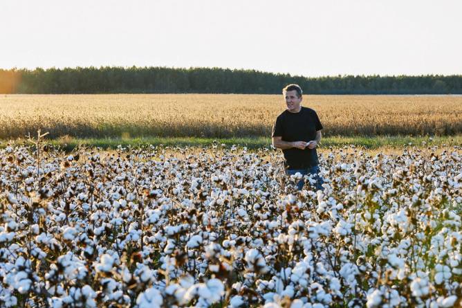
{"type": "MultiPolygon", "coordinates": [[[[296,114],[286,110],[276,118],[272,127],[272,137],[282,137],[283,141],[312,141],[316,132],[322,129],[316,111],[302,107],[296,114]]],[[[284,165],[287,169],[305,169],[318,164],[316,148],[300,150],[297,148],[282,150],[284,165]]]]}

